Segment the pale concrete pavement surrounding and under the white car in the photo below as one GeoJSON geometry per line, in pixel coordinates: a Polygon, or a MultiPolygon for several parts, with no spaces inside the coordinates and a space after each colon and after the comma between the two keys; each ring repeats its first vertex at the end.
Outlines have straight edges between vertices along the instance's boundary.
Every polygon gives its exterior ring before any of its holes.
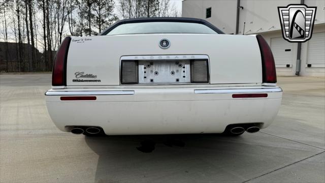
{"type": "Polygon", "coordinates": [[[255,134],[89,138],[60,132],[44,102],[51,75],[0,75],[0,182],[324,182],[325,79],[278,77],[274,123],[255,134]],[[152,153],[140,141],[156,142],[152,153]],[[176,142],[175,140],[175,142],[176,142]]]}

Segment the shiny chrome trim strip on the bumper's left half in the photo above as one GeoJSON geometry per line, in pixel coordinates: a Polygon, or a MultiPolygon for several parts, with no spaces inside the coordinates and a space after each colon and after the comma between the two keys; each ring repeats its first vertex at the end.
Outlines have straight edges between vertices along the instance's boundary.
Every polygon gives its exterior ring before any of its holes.
{"type": "Polygon", "coordinates": [[[88,96],[88,95],[134,95],[134,90],[116,91],[55,91],[48,90],[46,96],[88,96]]]}

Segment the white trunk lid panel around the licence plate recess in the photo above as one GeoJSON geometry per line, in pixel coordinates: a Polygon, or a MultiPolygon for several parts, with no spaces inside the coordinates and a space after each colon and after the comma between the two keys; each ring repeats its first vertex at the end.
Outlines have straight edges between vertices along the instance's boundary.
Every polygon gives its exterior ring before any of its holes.
{"type": "Polygon", "coordinates": [[[262,61],[255,36],[144,34],[73,37],[67,62],[67,85],[119,85],[120,58],[127,55],[208,55],[210,83],[262,83],[262,61]],[[161,49],[158,42],[169,39],[161,49]],[[81,41],[83,40],[83,41],[81,41]],[[101,82],[72,82],[76,72],[101,82]]]}

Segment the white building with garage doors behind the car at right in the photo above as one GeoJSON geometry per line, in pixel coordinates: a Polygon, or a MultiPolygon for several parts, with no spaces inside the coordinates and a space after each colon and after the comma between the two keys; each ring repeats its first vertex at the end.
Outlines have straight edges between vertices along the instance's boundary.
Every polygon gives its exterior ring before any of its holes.
{"type": "Polygon", "coordinates": [[[182,16],[205,19],[226,34],[261,34],[273,51],[278,75],[295,75],[297,71],[303,76],[325,75],[324,0],[184,0],[182,16]],[[300,55],[299,44],[282,37],[278,7],[289,4],[317,7],[312,38],[301,43],[300,55]]]}

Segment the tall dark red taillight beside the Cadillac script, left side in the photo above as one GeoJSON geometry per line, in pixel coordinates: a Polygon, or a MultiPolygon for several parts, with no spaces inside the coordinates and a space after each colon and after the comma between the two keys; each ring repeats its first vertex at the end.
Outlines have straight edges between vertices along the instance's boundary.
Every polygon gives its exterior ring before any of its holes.
{"type": "Polygon", "coordinates": [[[52,86],[66,85],[66,67],[70,41],[71,37],[66,37],[56,52],[52,71],[52,86]]]}

